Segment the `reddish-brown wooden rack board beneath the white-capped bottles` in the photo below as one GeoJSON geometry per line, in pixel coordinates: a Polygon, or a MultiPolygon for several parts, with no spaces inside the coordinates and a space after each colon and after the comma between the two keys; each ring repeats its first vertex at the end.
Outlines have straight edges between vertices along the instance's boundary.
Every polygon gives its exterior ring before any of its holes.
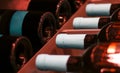
{"type": "Polygon", "coordinates": [[[83,54],[84,50],[75,50],[75,49],[61,49],[58,48],[55,44],[56,35],[64,32],[64,33],[99,33],[99,29],[91,29],[91,30],[78,30],[74,31],[67,31],[67,30],[74,30],[72,26],[72,21],[75,17],[83,16],[87,17],[85,12],[85,6],[88,3],[119,3],[120,0],[87,0],[84,5],[82,5],[78,11],[76,11],[72,17],[58,30],[58,32],[31,58],[31,60],[18,72],[18,73],[64,73],[64,72],[55,72],[55,71],[41,71],[38,70],[35,66],[35,59],[38,54],[70,54],[74,56],[80,56],[83,54]]]}

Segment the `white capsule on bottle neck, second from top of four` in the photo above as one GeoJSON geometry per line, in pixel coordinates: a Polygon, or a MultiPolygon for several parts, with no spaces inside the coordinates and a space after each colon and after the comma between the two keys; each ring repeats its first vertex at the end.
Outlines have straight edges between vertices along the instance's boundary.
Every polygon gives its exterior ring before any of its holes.
{"type": "Polygon", "coordinates": [[[94,29],[98,28],[100,17],[76,17],[73,20],[73,28],[75,29],[94,29]]]}

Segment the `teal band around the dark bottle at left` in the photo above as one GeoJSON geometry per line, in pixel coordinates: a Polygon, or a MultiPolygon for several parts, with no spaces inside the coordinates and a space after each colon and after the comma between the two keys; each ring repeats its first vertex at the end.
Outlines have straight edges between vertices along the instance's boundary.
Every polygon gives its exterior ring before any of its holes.
{"type": "Polygon", "coordinates": [[[10,21],[10,35],[21,36],[22,35],[22,24],[25,15],[28,11],[16,11],[10,21]]]}

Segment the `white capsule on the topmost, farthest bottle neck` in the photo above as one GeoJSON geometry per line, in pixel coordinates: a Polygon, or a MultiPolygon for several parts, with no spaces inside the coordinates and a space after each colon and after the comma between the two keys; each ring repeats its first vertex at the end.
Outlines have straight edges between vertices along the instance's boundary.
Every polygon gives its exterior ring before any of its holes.
{"type": "Polygon", "coordinates": [[[86,14],[88,16],[109,16],[111,3],[107,4],[88,4],[86,14]]]}

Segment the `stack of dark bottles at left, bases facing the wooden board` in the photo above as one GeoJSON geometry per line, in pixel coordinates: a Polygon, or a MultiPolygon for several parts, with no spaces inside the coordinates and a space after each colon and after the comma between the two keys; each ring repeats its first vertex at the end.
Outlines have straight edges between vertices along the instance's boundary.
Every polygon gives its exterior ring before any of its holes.
{"type": "Polygon", "coordinates": [[[0,73],[17,73],[76,12],[79,3],[84,3],[81,1],[31,0],[27,9],[1,8],[0,73]]]}

